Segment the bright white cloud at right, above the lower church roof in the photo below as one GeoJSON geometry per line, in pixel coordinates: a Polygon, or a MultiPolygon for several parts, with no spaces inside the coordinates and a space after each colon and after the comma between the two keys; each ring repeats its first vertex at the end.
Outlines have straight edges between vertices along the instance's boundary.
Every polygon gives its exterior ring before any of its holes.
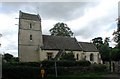
{"type": "Polygon", "coordinates": [[[117,18],[116,4],[116,2],[109,2],[107,4],[101,2],[95,8],[88,8],[86,14],[81,18],[68,22],[68,24],[70,23],[69,26],[74,29],[75,36],[88,39],[100,36],[101,33],[107,31],[117,18]]]}

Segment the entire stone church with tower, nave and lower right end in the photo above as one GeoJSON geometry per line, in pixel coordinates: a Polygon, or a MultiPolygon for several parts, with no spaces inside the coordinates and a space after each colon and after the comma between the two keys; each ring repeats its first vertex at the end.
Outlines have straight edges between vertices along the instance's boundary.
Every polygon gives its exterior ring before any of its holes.
{"type": "Polygon", "coordinates": [[[74,58],[102,63],[93,43],[79,42],[75,37],[42,35],[41,17],[19,11],[18,57],[20,62],[39,62],[73,52],[74,58]]]}

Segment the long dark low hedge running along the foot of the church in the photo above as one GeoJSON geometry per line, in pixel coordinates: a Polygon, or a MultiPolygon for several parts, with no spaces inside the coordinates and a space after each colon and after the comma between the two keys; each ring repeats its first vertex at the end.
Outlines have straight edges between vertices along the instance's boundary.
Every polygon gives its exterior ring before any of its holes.
{"type": "MultiPolygon", "coordinates": [[[[73,66],[90,66],[89,61],[56,61],[57,66],[62,67],[73,67],[73,66]]],[[[40,67],[41,64],[44,67],[53,67],[55,61],[43,61],[43,62],[18,62],[18,63],[3,63],[4,66],[31,66],[31,67],[40,67]]]]}

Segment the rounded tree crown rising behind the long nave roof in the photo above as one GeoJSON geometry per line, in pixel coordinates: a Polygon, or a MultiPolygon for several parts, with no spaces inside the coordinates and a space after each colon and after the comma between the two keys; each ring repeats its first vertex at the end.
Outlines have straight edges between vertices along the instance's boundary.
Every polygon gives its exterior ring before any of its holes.
{"type": "Polygon", "coordinates": [[[73,36],[73,32],[70,30],[69,27],[67,27],[67,24],[65,23],[58,22],[49,31],[53,36],[73,36]]]}

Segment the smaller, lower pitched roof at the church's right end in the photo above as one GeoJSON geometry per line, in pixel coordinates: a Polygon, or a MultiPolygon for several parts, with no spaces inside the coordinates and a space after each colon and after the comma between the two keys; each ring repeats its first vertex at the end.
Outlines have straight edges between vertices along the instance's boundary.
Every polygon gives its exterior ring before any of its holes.
{"type": "Polygon", "coordinates": [[[95,47],[93,43],[79,42],[79,45],[85,52],[98,52],[98,49],[95,47]]]}

